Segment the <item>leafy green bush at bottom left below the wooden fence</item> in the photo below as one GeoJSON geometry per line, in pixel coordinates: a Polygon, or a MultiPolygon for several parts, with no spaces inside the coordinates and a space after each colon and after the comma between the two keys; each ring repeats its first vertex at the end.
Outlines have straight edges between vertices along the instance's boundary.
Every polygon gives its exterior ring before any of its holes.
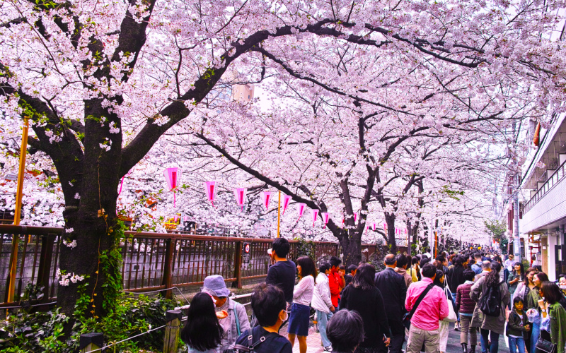
{"type": "MultiPolygon", "coordinates": [[[[116,309],[104,318],[69,318],[59,309],[47,313],[19,311],[7,322],[0,323],[1,352],[74,352],[81,333],[104,333],[108,342],[125,340],[151,328],[165,325],[166,311],[174,309],[175,301],[144,295],[121,294],[116,309]],[[66,342],[64,325],[74,320],[73,333],[66,342]]],[[[155,330],[117,345],[116,352],[139,352],[139,349],[163,348],[163,329],[155,330]]]]}

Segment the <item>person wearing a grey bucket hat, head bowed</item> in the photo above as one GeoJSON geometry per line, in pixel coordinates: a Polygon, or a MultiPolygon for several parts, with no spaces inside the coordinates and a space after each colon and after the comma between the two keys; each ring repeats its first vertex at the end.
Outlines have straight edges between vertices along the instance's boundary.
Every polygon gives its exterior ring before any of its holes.
{"type": "Polygon", "coordinates": [[[216,311],[226,311],[228,316],[219,318],[219,323],[224,329],[221,344],[218,349],[220,353],[233,353],[238,336],[250,328],[246,308],[240,303],[233,301],[229,296],[230,290],[226,288],[226,282],[221,275],[212,275],[204,278],[201,292],[209,294],[216,306],[216,311]]]}

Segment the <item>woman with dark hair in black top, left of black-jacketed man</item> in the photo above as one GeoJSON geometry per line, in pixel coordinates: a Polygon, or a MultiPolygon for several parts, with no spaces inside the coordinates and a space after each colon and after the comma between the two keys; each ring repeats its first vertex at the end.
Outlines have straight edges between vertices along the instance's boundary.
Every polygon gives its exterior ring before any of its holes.
{"type": "Polygon", "coordinates": [[[357,353],[385,352],[391,340],[383,297],[375,285],[375,274],[374,266],[368,263],[359,265],[340,301],[340,309],[355,310],[364,321],[364,340],[357,347],[357,353]]]}

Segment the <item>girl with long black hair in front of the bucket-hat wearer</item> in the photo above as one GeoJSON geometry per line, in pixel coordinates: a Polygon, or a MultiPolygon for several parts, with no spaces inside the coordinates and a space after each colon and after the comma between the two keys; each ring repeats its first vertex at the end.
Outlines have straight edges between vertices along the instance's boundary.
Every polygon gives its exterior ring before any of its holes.
{"type": "Polygon", "coordinates": [[[181,340],[190,353],[217,353],[224,330],[214,311],[214,301],[207,293],[197,293],[187,311],[187,323],[181,331],[181,340]]]}

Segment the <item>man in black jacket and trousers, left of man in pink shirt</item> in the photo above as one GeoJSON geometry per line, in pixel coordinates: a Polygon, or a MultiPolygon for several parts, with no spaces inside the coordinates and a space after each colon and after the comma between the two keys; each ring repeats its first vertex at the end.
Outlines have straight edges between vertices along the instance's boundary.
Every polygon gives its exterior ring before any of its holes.
{"type": "MultiPolygon", "coordinates": [[[[395,255],[389,253],[385,257],[385,270],[376,273],[376,287],[381,292],[387,321],[391,329],[391,344],[389,353],[400,353],[405,340],[405,327],[403,326],[403,315],[405,315],[405,299],[407,297],[407,285],[402,275],[395,272],[395,255]]],[[[387,352],[387,347],[383,347],[387,352]]]]}

